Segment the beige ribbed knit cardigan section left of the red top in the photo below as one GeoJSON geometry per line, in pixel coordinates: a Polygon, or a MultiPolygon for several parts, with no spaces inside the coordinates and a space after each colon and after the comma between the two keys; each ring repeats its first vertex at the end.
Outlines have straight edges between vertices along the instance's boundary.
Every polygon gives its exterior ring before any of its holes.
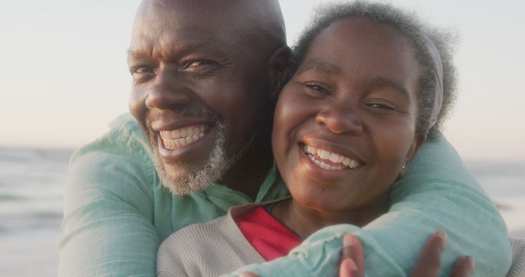
{"type": "Polygon", "coordinates": [[[246,264],[264,262],[244,239],[230,212],[184,227],[165,239],[157,252],[157,275],[218,276],[246,264]]]}

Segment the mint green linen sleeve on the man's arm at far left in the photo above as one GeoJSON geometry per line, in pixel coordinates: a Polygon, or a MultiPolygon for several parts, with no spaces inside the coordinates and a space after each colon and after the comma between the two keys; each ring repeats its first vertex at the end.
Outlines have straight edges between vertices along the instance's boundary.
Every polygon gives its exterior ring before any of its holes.
{"type": "MultiPolygon", "coordinates": [[[[122,127],[121,130],[125,128],[122,127]]],[[[58,275],[154,276],[154,168],[133,135],[110,131],[71,158],[58,275]]]]}

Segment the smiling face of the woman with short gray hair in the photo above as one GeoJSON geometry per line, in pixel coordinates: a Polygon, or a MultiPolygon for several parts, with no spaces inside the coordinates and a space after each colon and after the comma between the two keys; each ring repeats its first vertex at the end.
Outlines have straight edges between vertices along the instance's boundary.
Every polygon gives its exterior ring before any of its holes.
{"type": "Polygon", "coordinates": [[[293,203],[359,211],[330,225],[363,226],[387,210],[388,188],[426,137],[416,133],[419,68],[411,42],[386,24],[341,19],[316,36],[275,114],[274,156],[293,203]]]}

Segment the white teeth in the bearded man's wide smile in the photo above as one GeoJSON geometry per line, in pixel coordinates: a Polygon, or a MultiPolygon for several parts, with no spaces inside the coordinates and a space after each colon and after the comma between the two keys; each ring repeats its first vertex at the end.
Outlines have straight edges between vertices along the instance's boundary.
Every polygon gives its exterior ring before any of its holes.
{"type": "Polygon", "coordinates": [[[161,138],[167,149],[176,149],[198,141],[204,136],[204,125],[193,125],[173,131],[161,131],[161,138]]]}

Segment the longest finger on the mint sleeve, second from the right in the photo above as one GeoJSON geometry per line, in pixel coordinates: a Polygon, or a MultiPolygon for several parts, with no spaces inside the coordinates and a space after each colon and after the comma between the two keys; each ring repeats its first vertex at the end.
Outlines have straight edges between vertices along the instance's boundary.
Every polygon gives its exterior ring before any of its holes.
{"type": "Polygon", "coordinates": [[[445,251],[446,245],[447,234],[445,232],[439,231],[430,236],[419,256],[416,268],[412,272],[412,277],[439,276],[441,256],[445,251]]]}

